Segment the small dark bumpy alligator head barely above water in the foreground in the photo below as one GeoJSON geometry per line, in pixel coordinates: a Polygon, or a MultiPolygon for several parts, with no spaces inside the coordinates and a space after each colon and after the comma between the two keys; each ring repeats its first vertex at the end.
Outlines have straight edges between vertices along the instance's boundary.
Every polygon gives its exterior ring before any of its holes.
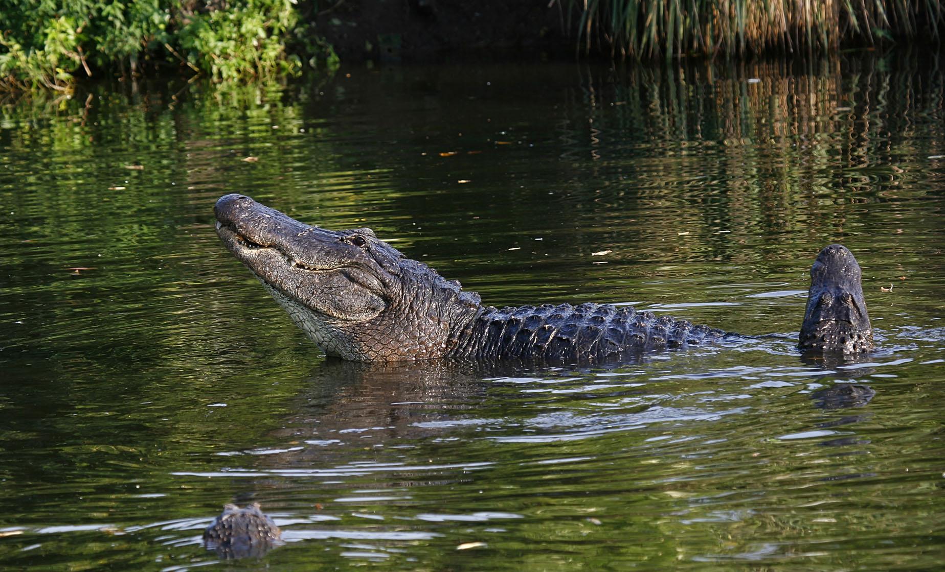
{"type": "Polygon", "coordinates": [[[203,530],[204,545],[224,559],[262,556],[282,544],[281,539],[282,530],[256,502],[242,509],[224,505],[223,512],[203,530]]]}

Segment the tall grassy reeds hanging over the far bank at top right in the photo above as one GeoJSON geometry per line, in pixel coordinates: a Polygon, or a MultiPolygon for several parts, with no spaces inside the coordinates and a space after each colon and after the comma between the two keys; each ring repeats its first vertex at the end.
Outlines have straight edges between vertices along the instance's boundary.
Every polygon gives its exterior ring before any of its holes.
{"type": "Polygon", "coordinates": [[[785,53],[938,39],[939,0],[569,0],[585,51],[614,57],[785,53]]]}

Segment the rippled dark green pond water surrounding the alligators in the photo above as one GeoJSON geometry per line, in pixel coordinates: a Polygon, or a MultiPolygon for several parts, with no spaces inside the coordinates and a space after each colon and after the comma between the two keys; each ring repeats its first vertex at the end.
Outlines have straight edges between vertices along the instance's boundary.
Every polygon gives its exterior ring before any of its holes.
{"type": "Polygon", "coordinates": [[[287,542],[242,568],[941,566],[939,60],[90,89],[0,107],[0,568],[229,565],[200,532],[250,500],[287,542]],[[216,239],[230,192],[373,227],[492,305],[781,335],[610,368],[325,361],[216,239]],[[828,367],[793,336],[833,242],[881,350],[828,367]],[[850,381],[876,395],[816,399],[850,381]]]}

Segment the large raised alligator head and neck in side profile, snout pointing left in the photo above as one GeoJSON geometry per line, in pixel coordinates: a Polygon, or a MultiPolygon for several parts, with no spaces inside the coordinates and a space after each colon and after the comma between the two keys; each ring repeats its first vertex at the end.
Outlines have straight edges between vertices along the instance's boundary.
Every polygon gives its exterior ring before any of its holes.
{"type": "Polygon", "coordinates": [[[479,309],[370,228],[310,227],[241,194],[214,207],[216,233],[232,254],[330,356],[355,362],[436,358],[479,309]]]}

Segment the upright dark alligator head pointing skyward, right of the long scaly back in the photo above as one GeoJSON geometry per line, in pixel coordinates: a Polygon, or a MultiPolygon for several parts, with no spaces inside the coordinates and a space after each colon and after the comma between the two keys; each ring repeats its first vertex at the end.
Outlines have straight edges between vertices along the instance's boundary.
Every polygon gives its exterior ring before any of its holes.
{"type": "Polygon", "coordinates": [[[803,352],[861,353],[873,349],[860,265],[846,246],[831,244],[811,267],[807,312],[800,327],[803,352]]]}

